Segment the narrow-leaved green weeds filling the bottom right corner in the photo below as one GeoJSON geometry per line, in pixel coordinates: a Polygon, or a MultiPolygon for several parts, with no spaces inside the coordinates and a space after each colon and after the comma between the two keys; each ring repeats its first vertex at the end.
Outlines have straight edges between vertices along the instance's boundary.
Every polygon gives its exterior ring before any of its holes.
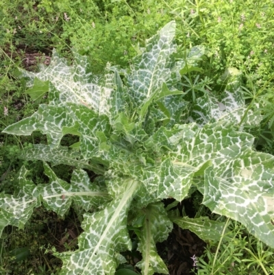
{"type": "Polygon", "coordinates": [[[219,243],[208,244],[197,259],[197,274],[274,274],[273,249],[249,235],[238,222],[227,219],[232,234],[219,243]]]}

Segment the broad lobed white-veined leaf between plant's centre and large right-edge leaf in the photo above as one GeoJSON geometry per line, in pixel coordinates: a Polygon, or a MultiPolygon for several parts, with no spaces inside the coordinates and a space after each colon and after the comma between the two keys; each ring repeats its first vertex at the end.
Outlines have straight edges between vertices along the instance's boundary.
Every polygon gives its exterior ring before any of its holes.
{"type": "Polygon", "coordinates": [[[216,158],[221,162],[240,147],[251,146],[253,137],[234,132],[229,123],[212,123],[201,129],[193,123],[173,130],[160,128],[145,143],[147,147],[153,144],[158,152],[162,147],[169,148],[170,158],[151,169],[145,167],[142,182],[155,198],[181,201],[188,195],[194,176],[203,174],[216,158]]]}

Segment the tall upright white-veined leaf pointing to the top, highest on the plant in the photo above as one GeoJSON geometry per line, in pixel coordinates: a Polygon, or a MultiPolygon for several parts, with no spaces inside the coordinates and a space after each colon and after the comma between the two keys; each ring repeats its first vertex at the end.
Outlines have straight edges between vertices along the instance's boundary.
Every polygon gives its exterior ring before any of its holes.
{"type": "MultiPolygon", "coordinates": [[[[145,115],[151,101],[164,93],[166,88],[163,88],[163,85],[171,80],[173,67],[176,66],[171,58],[171,54],[176,51],[174,37],[175,21],[171,21],[158,34],[146,41],[145,51],[134,58],[131,72],[125,74],[129,96],[141,117],[145,115]]],[[[177,75],[175,77],[179,82],[177,75]]],[[[175,93],[172,92],[173,87],[169,88],[170,93],[175,93]]]]}

